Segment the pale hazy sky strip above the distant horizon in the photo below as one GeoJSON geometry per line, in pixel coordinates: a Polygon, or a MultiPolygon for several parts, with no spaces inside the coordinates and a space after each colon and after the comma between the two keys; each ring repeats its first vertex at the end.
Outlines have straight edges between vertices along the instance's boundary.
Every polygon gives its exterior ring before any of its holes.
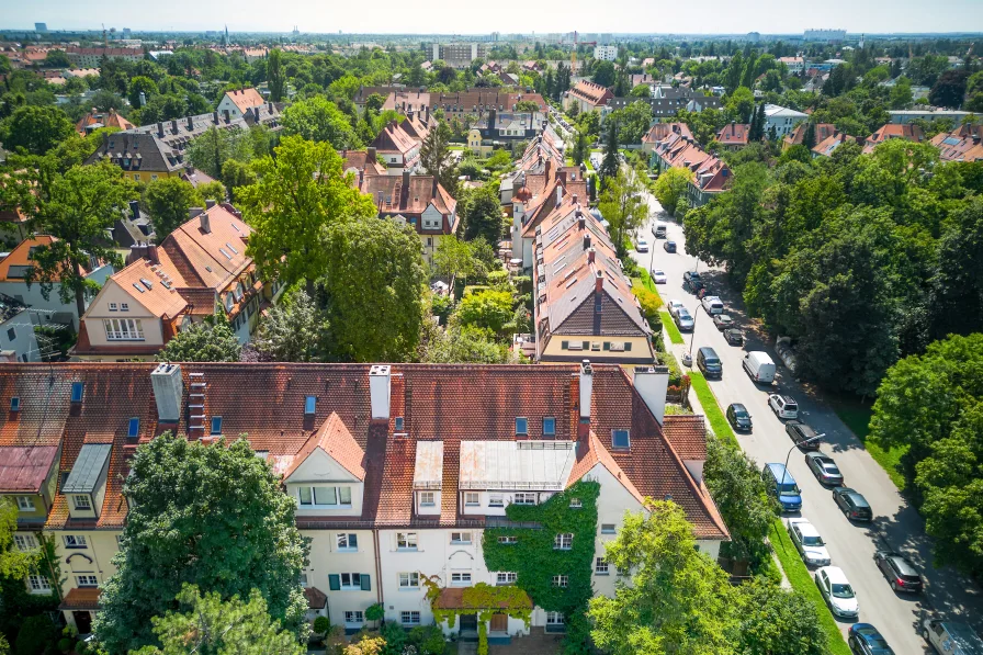
{"type": "Polygon", "coordinates": [[[0,29],[443,33],[983,32],[983,0],[0,0],[0,29]]]}

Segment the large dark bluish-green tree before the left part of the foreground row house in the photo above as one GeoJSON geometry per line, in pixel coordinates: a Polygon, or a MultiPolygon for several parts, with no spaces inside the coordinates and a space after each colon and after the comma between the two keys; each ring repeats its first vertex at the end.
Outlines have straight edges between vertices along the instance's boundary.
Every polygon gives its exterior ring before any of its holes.
{"type": "Polygon", "coordinates": [[[162,645],[151,619],[180,610],[185,584],[223,601],[257,589],[274,621],[306,637],[298,580],[309,545],[296,502],[245,439],[204,444],[165,432],[137,448],[123,494],[129,511],[116,573],[93,623],[110,653],[162,645]]]}

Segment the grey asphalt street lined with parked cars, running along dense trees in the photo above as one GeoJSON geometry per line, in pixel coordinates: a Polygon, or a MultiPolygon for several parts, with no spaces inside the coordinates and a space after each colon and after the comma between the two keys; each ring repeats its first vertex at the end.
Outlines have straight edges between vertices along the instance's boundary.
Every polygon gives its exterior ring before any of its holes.
{"type": "MultiPolygon", "coordinates": [[[[640,228],[640,234],[649,244],[649,252],[632,252],[632,257],[648,270],[664,270],[668,283],[659,285],[663,300],[681,301],[694,317],[694,337],[683,335],[685,348],[688,349],[691,340],[694,340],[694,359],[697,349],[701,346],[712,347],[721,358],[723,377],[711,380],[709,384],[723,409],[731,403],[743,403],[748,408],[754,430],[750,434],[737,437],[745,452],[762,466],[767,462],[784,462],[789,448],[792,447],[783,421],[768,407],[768,393],[772,389],[752,382],[741,365],[746,351],[765,350],[778,364],[773,391],[789,394],[798,400],[800,420],[811,425],[817,432],[825,432],[821,450],[836,461],[846,486],[863,494],[870,502],[874,520],[870,524],[851,523],[833,501],[831,490],[821,485],[807,468],[804,454],[798,449],[792,451],[789,471],[802,489],[801,516],[818,529],[827,542],[833,565],[846,573],[860,603],[859,620],[877,626],[897,655],[934,652],[919,636],[920,619],[925,617],[941,616],[948,620],[968,622],[980,632],[983,628],[983,592],[980,587],[948,567],[937,569],[931,565],[930,543],[925,537],[920,517],[902,498],[886,473],[863,450],[833,409],[814,389],[791,379],[791,373],[781,365],[781,360],[775,353],[773,341],[765,343],[764,335],[755,329],[754,323],[745,314],[739,294],[730,290],[725,274],[703,262],[699,263],[698,270],[708,285],[708,295],[721,296],[726,307],[725,313],[745,329],[747,341],[744,347],[727,345],[697,297],[682,291],[682,273],[693,270],[697,260],[685,252],[681,226],[662,213],[662,207],[651,194],[645,195],[652,210],[651,221],[658,217],[667,223],[668,238],[676,241],[678,252],[670,255],[663,249],[664,240],[655,239],[649,223],[640,228]],[[874,551],[881,549],[901,551],[915,563],[926,579],[924,597],[891,590],[888,580],[873,563],[874,551]]],[[[675,348],[677,355],[683,351],[683,347],[675,348]]],[[[837,622],[846,634],[849,622],[837,622]]]]}

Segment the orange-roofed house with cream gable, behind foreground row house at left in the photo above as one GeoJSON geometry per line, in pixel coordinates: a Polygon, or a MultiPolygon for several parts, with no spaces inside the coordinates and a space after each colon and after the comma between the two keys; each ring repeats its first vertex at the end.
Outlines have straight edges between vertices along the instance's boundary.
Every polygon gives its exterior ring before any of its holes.
{"type": "Polygon", "coordinates": [[[240,343],[282,291],[263,282],[246,255],[252,233],[229,204],[191,210],[190,221],[159,246],[131,248],[129,263],[111,275],[82,316],[75,358],[152,360],[178,332],[216,312],[240,343]]]}

